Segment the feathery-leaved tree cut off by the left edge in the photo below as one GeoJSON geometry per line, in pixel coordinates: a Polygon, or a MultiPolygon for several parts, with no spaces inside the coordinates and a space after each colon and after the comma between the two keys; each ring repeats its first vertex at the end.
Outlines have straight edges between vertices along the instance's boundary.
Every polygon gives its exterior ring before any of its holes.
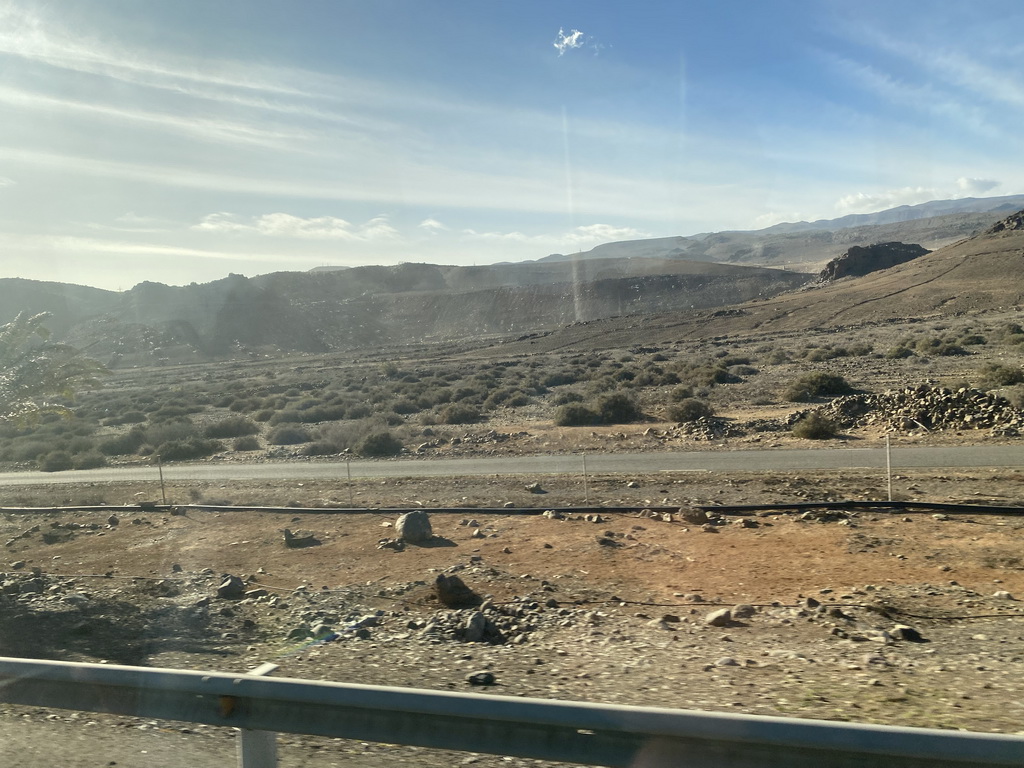
{"type": "Polygon", "coordinates": [[[22,312],[0,326],[0,422],[67,413],[67,400],[105,373],[75,347],[50,341],[49,316],[22,312]]]}

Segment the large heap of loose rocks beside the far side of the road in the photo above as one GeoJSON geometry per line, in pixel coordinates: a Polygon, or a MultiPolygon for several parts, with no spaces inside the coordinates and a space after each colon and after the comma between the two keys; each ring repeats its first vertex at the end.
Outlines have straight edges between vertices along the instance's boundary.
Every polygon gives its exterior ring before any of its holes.
{"type": "Polygon", "coordinates": [[[881,394],[853,394],[838,397],[818,411],[844,429],[881,426],[899,432],[990,429],[997,436],[1024,433],[1024,413],[1002,397],[968,388],[923,384],[881,394]]]}

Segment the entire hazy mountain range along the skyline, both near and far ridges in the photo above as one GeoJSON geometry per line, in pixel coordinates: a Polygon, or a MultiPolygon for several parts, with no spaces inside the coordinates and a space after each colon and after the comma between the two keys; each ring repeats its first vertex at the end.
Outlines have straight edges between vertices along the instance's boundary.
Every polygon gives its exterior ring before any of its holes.
{"type": "Polygon", "coordinates": [[[50,312],[57,338],[113,367],[528,335],[767,300],[811,282],[812,271],[850,246],[902,241],[934,249],[991,226],[1014,205],[1024,208],[1024,196],[870,214],[878,223],[848,216],[609,243],[514,264],[322,267],[185,287],[142,283],[124,292],[6,279],[0,323],[20,311],[50,312]],[[955,206],[969,210],[928,215],[955,206]],[[844,225],[828,228],[836,222],[844,225]]]}

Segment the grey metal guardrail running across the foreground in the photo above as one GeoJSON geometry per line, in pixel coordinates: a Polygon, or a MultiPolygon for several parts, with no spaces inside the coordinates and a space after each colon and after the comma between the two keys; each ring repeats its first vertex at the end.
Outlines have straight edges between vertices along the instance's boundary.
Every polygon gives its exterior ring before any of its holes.
{"type": "Polygon", "coordinates": [[[7,657],[0,700],[602,766],[1024,765],[1019,736],[7,657]]]}

